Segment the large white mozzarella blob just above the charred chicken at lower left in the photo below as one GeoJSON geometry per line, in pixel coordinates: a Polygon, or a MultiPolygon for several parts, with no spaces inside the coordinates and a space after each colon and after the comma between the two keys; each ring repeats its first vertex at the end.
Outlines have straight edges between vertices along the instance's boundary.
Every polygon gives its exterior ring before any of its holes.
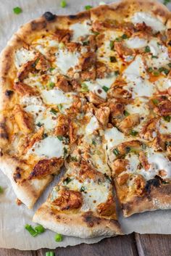
{"type": "Polygon", "coordinates": [[[48,136],[41,141],[37,141],[28,154],[36,154],[38,157],[62,157],[64,155],[64,144],[57,137],[48,136]]]}

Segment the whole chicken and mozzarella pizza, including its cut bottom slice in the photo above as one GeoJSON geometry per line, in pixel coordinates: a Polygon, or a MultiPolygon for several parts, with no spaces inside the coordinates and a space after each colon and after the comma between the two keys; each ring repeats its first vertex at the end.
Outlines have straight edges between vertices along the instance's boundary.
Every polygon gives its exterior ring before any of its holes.
{"type": "Polygon", "coordinates": [[[46,12],[0,57],[1,170],[33,221],[68,236],[122,234],[125,217],[171,208],[171,15],[127,0],[46,12]]]}

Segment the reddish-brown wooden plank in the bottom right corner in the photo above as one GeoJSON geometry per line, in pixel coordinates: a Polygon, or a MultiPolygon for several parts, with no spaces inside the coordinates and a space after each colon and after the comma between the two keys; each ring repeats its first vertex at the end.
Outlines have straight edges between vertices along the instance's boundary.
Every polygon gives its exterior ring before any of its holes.
{"type": "Polygon", "coordinates": [[[135,234],[139,256],[170,256],[171,235],[135,234]]]}

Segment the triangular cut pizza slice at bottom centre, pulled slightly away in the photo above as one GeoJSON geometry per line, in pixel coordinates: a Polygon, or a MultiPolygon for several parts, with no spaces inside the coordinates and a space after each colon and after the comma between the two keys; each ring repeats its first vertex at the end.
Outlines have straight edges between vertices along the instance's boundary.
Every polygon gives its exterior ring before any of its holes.
{"type": "Polygon", "coordinates": [[[122,234],[112,180],[86,160],[70,162],[64,178],[37,210],[33,221],[67,236],[90,238],[122,234]]]}

